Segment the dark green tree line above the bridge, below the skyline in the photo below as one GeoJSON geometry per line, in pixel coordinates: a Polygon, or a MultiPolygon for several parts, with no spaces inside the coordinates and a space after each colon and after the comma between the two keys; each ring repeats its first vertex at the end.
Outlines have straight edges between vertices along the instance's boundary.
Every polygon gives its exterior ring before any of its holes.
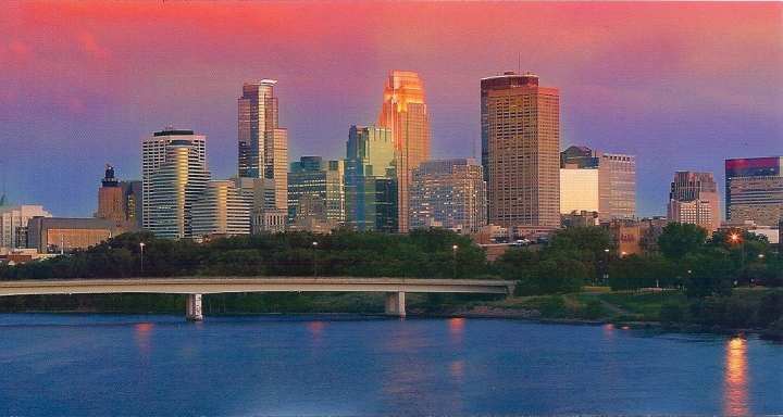
{"type": "Polygon", "coordinates": [[[780,287],[781,260],[763,236],[670,223],[659,254],[619,256],[607,230],[557,230],[548,244],[510,248],[494,262],[468,236],[445,229],[408,235],[336,229],[243,235],[197,243],[125,233],[70,255],[0,266],[0,279],[175,276],[470,278],[519,281],[518,295],[684,288],[689,298],[726,295],[735,286],[780,287]],[[144,243],[144,245],[141,244],[144,243]]]}

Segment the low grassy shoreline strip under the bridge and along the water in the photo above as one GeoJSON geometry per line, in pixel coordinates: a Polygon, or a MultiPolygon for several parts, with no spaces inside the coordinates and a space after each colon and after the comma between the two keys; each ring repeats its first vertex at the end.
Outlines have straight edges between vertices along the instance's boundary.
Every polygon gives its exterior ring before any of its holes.
{"type": "MultiPolygon", "coordinates": [[[[408,317],[507,318],[567,325],[612,325],[622,329],[659,329],[663,332],[717,332],[759,334],[783,341],[783,320],[771,326],[751,323],[724,323],[735,304],[745,305],[746,314],[763,314],[763,300],[783,301],[780,289],[743,289],[731,299],[703,303],[684,296],[683,290],[648,289],[642,292],[610,292],[608,287],[592,287],[584,292],[511,300],[486,300],[486,295],[408,294],[408,317]],[[732,300],[733,299],[733,300],[732,300]],[[734,304],[734,305],[733,305],[734,304]],[[754,308],[756,311],[754,311],[754,308]],[[680,320],[667,315],[683,312],[680,320]],[[685,312],[698,312],[696,317],[685,312]]],[[[184,313],[184,295],[177,294],[92,294],[17,295],[0,299],[0,313],[63,314],[170,314],[184,313]]],[[[779,306],[781,304],[778,304],[779,306]]],[[[310,294],[204,294],[204,314],[237,315],[383,315],[383,295],[373,293],[310,294]]],[[[774,312],[770,312],[775,314],[774,312]]],[[[760,318],[763,321],[763,318],[760,318]]],[[[758,321],[758,319],[757,319],[758,321]]]]}

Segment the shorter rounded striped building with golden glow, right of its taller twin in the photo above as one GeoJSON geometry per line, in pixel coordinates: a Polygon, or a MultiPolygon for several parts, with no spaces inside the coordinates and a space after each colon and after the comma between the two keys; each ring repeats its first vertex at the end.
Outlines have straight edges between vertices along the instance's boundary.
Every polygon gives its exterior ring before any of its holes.
{"type": "Polygon", "coordinates": [[[241,193],[231,180],[207,182],[192,205],[192,237],[250,233],[252,193],[241,193]]]}

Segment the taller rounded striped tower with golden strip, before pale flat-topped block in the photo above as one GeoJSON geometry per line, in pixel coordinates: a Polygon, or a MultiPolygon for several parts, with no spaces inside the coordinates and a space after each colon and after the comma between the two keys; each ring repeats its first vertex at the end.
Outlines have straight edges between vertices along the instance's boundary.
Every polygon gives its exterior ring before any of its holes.
{"type": "Polygon", "coordinates": [[[192,239],[192,205],[210,177],[192,141],[171,141],[163,163],[149,176],[147,229],[157,238],[192,239]]]}

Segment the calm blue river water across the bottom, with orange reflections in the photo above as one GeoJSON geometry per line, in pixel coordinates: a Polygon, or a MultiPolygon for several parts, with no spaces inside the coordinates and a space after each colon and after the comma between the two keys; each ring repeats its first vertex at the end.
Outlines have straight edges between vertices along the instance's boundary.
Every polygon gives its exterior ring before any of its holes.
{"type": "Polygon", "coordinates": [[[0,315],[5,415],[783,414],[783,345],[513,319],[0,315]]]}

